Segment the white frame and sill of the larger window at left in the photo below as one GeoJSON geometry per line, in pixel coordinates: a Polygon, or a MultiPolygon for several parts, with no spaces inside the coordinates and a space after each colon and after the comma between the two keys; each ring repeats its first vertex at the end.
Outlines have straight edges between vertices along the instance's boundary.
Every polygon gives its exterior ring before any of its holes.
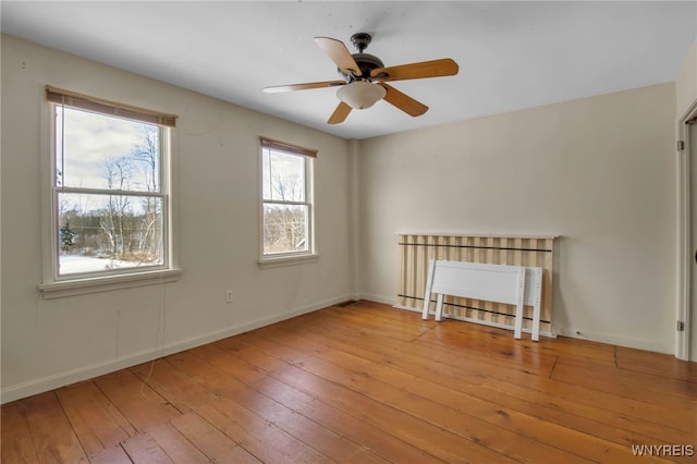
{"type": "MultiPolygon", "coordinates": [[[[95,97],[88,97],[70,90],[46,87],[47,99],[42,105],[41,123],[41,217],[42,217],[42,282],[38,289],[45,298],[56,298],[73,296],[85,293],[95,293],[127,289],[133,286],[161,284],[173,282],[179,279],[182,269],[179,268],[176,255],[176,240],[173,233],[174,208],[172,207],[172,179],[174,173],[174,133],[173,121],[175,115],[158,113],[137,107],[117,103],[95,97]],[[66,102],[56,102],[56,94],[60,94],[66,102]],[[73,98],[74,100],[71,100],[73,98]],[[81,101],[81,105],[71,105],[71,101],[81,101]],[[171,123],[159,125],[160,138],[160,192],[157,195],[162,198],[162,252],[163,262],[158,266],[148,266],[144,269],[124,268],[110,272],[84,272],[59,276],[58,251],[59,251],[59,218],[58,218],[58,193],[73,192],[90,193],[90,190],[74,190],[70,187],[59,187],[56,185],[56,107],[65,105],[77,110],[93,111],[103,115],[117,115],[125,120],[137,120],[130,117],[133,111],[151,114],[154,118],[168,118],[171,123]],[[93,105],[93,109],[86,109],[93,105]],[[169,125],[169,126],[168,126],[169,125]]],[[[151,121],[145,121],[152,123],[151,121]]],[[[100,190],[91,190],[94,193],[103,194],[100,190]]],[[[145,193],[147,196],[147,193],[145,193]]]]}

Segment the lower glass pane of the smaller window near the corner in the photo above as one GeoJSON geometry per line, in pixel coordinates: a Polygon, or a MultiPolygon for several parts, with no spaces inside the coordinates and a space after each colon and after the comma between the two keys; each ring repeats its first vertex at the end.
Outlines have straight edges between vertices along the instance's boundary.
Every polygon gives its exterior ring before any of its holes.
{"type": "Polygon", "coordinates": [[[307,252],[307,205],[264,205],[264,254],[307,252]]]}

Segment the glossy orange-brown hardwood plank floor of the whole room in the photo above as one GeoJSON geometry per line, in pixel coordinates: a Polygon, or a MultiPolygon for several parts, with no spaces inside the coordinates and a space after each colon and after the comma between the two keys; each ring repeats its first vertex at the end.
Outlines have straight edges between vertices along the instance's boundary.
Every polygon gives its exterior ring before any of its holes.
{"type": "Polygon", "coordinates": [[[697,462],[695,363],[369,302],[1,413],[7,464],[697,462]]]}

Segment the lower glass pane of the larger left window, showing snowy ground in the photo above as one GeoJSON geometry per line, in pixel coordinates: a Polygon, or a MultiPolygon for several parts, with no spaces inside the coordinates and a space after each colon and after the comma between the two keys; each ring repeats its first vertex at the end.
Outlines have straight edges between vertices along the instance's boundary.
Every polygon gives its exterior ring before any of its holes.
{"type": "Polygon", "coordinates": [[[59,274],[163,265],[160,197],[58,194],[59,274]]]}

